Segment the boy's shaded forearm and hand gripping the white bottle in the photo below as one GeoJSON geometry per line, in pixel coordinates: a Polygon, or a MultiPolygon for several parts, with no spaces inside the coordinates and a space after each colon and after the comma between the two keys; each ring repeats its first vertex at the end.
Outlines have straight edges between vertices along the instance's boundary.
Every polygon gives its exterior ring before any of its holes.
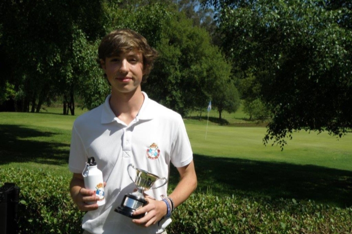
{"type": "MultiPolygon", "coordinates": [[[[105,184],[105,183],[104,183],[105,184]]],[[[81,211],[98,209],[98,204],[87,204],[88,201],[99,201],[99,196],[94,196],[93,190],[85,189],[82,174],[73,173],[70,183],[70,194],[73,202],[81,211]]]]}

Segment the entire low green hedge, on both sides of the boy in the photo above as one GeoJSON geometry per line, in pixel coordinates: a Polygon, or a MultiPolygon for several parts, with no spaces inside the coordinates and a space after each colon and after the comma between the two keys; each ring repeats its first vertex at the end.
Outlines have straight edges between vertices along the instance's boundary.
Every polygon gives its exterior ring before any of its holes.
{"type": "MultiPolygon", "coordinates": [[[[81,234],[84,215],[70,199],[70,178],[0,168],[0,185],[20,187],[18,234],[81,234]]],[[[168,234],[351,234],[352,207],[314,201],[194,193],[173,213],[168,234]]]]}

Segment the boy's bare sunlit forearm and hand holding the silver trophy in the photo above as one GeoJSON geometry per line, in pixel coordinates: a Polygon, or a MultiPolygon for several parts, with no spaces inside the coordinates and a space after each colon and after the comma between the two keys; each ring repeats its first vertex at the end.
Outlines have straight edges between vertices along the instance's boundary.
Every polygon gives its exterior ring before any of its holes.
{"type": "MultiPolygon", "coordinates": [[[[169,195],[174,201],[174,207],[186,201],[197,187],[197,177],[193,161],[185,167],[177,167],[177,170],[180,174],[180,181],[174,191],[169,195]]],[[[146,199],[149,201],[149,204],[135,211],[133,215],[139,215],[145,212],[148,212],[148,214],[140,219],[132,220],[134,223],[144,227],[156,224],[167,214],[167,207],[164,201],[156,201],[148,196],[146,199]]]]}

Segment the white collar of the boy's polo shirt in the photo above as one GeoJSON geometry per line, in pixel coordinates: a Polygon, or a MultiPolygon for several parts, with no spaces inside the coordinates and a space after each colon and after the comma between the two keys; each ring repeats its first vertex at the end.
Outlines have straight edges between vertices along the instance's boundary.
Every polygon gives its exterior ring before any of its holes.
{"type": "MultiPolygon", "coordinates": [[[[153,111],[148,111],[148,106],[150,106],[151,104],[151,100],[148,98],[148,95],[144,92],[142,92],[143,96],[144,96],[144,101],[143,104],[141,106],[141,109],[136,117],[136,121],[138,120],[150,120],[153,119],[155,117],[155,113],[153,111]]],[[[113,121],[117,121],[117,122],[121,122],[122,121],[115,116],[114,112],[111,110],[110,108],[110,100],[111,94],[109,94],[106,97],[105,102],[103,103],[103,111],[102,111],[102,119],[101,119],[101,123],[105,124],[105,123],[111,123],[113,121]]]]}

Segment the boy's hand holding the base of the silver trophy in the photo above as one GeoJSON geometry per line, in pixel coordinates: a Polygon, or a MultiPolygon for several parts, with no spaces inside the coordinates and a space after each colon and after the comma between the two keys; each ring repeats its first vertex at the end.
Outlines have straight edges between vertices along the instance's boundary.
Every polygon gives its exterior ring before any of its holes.
{"type": "Polygon", "coordinates": [[[132,219],[132,222],[143,227],[149,227],[158,223],[167,214],[167,206],[164,201],[156,201],[150,196],[146,196],[145,199],[149,203],[133,212],[133,215],[147,214],[140,219],[132,219]]]}

